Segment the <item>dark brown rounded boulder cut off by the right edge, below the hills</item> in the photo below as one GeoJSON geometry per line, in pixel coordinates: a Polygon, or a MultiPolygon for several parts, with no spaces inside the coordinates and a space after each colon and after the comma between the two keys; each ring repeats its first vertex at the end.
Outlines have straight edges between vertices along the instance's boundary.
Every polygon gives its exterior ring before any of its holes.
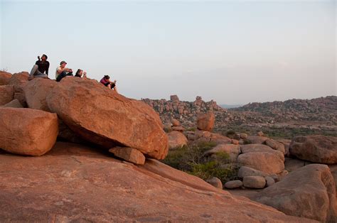
{"type": "Polygon", "coordinates": [[[291,141],[289,152],[304,161],[337,163],[337,137],[296,136],[291,141]]]}

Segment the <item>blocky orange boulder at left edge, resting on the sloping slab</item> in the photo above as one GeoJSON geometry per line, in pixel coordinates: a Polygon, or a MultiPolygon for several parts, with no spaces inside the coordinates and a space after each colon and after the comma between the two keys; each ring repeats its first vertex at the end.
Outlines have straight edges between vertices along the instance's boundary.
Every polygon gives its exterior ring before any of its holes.
{"type": "Polygon", "coordinates": [[[0,148],[10,153],[41,156],[58,136],[56,114],[34,109],[0,108],[0,148]]]}

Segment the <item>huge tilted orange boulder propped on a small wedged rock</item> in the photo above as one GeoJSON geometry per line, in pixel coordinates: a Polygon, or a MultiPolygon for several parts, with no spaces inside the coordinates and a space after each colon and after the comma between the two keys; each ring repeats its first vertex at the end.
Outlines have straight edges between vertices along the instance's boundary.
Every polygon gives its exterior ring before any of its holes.
{"type": "Polygon", "coordinates": [[[136,148],[152,158],[165,158],[168,138],[158,114],[144,102],[117,94],[95,80],[67,77],[47,97],[75,134],[105,148],[136,148]]]}

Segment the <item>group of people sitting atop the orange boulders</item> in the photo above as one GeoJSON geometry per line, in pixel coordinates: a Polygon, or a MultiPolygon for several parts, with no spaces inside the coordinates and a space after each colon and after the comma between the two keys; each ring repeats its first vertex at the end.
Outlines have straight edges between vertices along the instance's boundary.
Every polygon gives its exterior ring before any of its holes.
{"type": "MultiPolygon", "coordinates": [[[[41,58],[40,56],[38,56],[38,60],[36,61],[35,65],[33,65],[33,68],[31,69],[31,73],[29,74],[28,80],[32,80],[34,77],[48,78],[49,62],[47,59],[48,59],[48,56],[46,54],[43,54],[41,58]]],[[[65,67],[66,65],[67,65],[67,62],[63,60],[60,62],[60,65],[56,68],[55,80],[57,82],[60,82],[60,80],[62,80],[64,77],[69,77],[69,76],[87,79],[87,72],[83,71],[82,69],[78,69],[75,75],[73,75],[73,70],[68,67],[65,67]]],[[[112,82],[110,80],[109,75],[105,75],[100,80],[100,83],[102,85],[109,87],[109,89],[114,89],[115,92],[117,92],[116,82],[117,82],[116,80],[112,82]]]]}

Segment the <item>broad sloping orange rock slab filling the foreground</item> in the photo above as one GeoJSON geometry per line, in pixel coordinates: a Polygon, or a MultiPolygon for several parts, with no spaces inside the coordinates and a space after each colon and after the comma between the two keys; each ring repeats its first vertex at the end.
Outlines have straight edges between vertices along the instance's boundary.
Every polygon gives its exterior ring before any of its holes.
{"type": "Polygon", "coordinates": [[[314,222],[159,161],[137,166],[107,154],[71,143],[36,158],[0,154],[1,222],[314,222]]]}

